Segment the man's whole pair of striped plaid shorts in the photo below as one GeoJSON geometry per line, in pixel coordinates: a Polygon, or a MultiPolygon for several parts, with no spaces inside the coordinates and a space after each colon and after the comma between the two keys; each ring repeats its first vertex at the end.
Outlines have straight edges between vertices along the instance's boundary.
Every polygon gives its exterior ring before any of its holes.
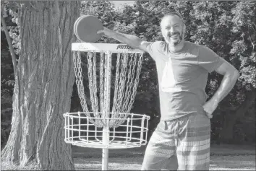
{"type": "Polygon", "coordinates": [[[189,114],[163,120],[148,142],[142,170],[209,170],[210,119],[189,114]]]}

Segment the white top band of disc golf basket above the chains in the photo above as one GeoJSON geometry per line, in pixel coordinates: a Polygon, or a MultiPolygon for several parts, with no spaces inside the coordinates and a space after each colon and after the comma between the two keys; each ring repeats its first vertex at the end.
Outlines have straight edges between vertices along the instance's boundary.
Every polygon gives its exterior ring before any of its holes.
{"type": "Polygon", "coordinates": [[[72,43],[72,51],[81,52],[104,52],[110,51],[111,53],[143,53],[140,49],[132,48],[125,44],[113,43],[72,43]]]}

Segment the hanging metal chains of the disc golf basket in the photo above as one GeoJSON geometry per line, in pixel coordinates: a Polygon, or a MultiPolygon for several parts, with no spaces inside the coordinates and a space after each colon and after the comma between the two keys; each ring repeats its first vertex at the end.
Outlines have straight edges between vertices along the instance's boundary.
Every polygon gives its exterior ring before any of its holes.
{"type": "MultiPolygon", "coordinates": [[[[116,78],[114,83],[114,102],[112,108],[112,120],[109,120],[109,128],[117,127],[121,123],[124,123],[123,118],[127,118],[127,114],[120,113],[129,113],[132,109],[132,104],[135,101],[135,95],[137,92],[137,85],[139,83],[139,76],[142,67],[142,56],[143,53],[140,53],[140,58],[137,62],[137,53],[117,53],[116,60],[116,78]],[[121,55],[122,54],[122,55],[121,55]],[[128,65],[128,66],[127,66],[128,65]],[[136,76],[135,70],[137,66],[136,76]],[[127,74],[128,72],[128,74],[127,74]],[[127,82],[126,82],[127,81],[127,82]]],[[[110,56],[111,57],[111,56],[110,56]]],[[[81,67],[81,57],[80,52],[74,53],[74,73],[76,76],[76,83],[78,89],[78,95],[80,97],[82,109],[88,116],[91,123],[97,127],[105,127],[106,122],[109,118],[109,115],[106,113],[106,98],[110,98],[106,95],[107,88],[107,58],[106,53],[101,52],[100,60],[100,111],[98,108],[98,96],[97,96],[97,75],[96,75],[96,53],[88,52],[88,81],[90,89],[90,101],[91,108],[93,110],[93,118],[98,118],[93,120],[90,118],[90,113],[88,110],[88,105],[85,99],[85,91],[82,83],[82,67],[81,67]]],[[[111,62],[111,60],[110,60],[111,62]]],[[[110,63],[111,64],[111,63],[110,63]]],[[[110,65],[111,66],[111,65],[110,65]]],[[[111,67],[109,68],[111,72],[111,67]]],[[[108,75],[110,76],[110,75],[108,75]]],[[[108,99],[109,100],[109,99],[108,99]]]]}

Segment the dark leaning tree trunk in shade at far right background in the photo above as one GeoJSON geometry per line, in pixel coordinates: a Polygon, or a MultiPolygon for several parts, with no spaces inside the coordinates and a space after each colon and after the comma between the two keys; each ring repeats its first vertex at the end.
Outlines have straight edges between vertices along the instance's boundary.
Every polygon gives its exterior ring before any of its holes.
{"type": "Polygon", "coordinates": [[[239,106],[239,108],[236,110],[234,114],[229,115],[229,117],[226,118],[226,124],[219,134],[219,137],[222,139],[222,141],[229,143],[231,139],[233,139],[234,136],[234,125],[236,123],[236,120],[239,118],[242,118],[244,114],[247,112],[248,108],[253,104],[255,101],[255,89],[253,89],[250,92],[247,92],[246,99],[242,104],[239,106]]]}

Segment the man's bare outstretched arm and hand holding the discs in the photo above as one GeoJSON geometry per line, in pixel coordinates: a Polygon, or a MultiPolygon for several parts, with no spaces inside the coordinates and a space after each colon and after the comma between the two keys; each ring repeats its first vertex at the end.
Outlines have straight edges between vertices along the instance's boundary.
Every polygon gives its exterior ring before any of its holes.
{"type": "Polygon", "coordinates": [[[150,44],[150,42],[143,41],[135,35],[127,35],[119,32],[114,32],[106,27],[104,27],[103,30],[99,30],[98,34],[101,32],[103,32],[103,34],[108,38],[114,38],[115,40],[130,45],[133,48],[138,48],[142,51],[148,52],[147,46],[150,44]]]}

